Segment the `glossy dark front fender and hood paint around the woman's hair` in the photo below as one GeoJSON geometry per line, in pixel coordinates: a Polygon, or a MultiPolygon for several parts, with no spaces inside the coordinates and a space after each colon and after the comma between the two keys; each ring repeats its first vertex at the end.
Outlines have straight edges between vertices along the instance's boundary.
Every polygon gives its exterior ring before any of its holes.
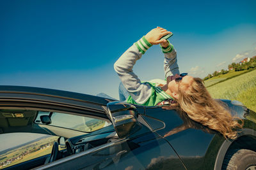
{"type": "MultiPolygon", "coordinates": [[[[256,138],[255,123],[246,120],[244,117],[249,114],[255,114],[255,112],[250,111],[248,113],[248,110],[245,110],[243,106],[235,106],[228,100],[222,101],[228,105],[233,115],[244,119],[244,129],[239,134],[240,138],[246,135],[255,136],[256,138]]],[[[208,127],[191,120],[187,115],[182,115],[175,110],[148,107],[146,108],[145,116],[154,117],[154,120],[158,119],[164,122],[164,129],[156,131],[159,135],[164,136],[169,131],[173,131],[173,134],[167,136],[166,139],[175,148],[175,152],[180,155],[188,169],[214,169],[214,167],[221,169],[228,146],[233,143],[231,139],[223,138],[219,132],[212,131],[208,127]]],[[[161,124],[159,124],[160,126],[161,124]]],[[[253,147],[253,143],[251,146],[253,147]]],[[[250,147],[251,150],[253,149],[252,147],[250,147]]],[[[255,150],[256,147],[254,148],[255,150]]]]}

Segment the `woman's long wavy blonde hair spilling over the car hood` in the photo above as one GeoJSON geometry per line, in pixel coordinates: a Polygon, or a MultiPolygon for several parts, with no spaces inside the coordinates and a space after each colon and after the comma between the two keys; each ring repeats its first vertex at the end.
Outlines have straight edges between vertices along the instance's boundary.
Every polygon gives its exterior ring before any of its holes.
{"type": "Polygon", "coordinates": [[[243,120],[233,117],[224,103],[213,99],[202,79],[193,78],[191,84],[182,83],[179,86],[183,86],[182,90],[179,88],[177,99],[181,111],[192,120],[220,132],[225,138],[237,138],[237,129],[243,127],[243,120]]]}

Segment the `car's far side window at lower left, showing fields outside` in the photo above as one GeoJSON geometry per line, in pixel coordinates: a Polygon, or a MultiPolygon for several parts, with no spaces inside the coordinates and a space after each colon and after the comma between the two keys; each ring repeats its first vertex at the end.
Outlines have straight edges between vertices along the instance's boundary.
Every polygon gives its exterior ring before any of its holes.
{"type": "Polygon", "coordinates": [[[0,169],[51,153],[58,136],[35,133],[0,134],[0,169]]]}

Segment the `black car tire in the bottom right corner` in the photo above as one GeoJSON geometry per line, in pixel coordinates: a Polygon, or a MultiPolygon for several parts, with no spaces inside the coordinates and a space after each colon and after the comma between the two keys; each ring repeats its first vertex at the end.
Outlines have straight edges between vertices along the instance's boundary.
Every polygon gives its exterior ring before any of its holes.
{"type": "Polygon", "coordinates": [[[255,170],[256,152],[246,149],[230,150],[223,160],[222,170],[255,170]]]}

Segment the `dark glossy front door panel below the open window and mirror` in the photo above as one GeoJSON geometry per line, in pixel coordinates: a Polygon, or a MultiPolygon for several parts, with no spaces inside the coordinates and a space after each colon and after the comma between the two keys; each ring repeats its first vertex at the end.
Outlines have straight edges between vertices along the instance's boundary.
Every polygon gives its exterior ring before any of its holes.
{"type": "Polygon", "coordinates": [[[66,157],[56,160],[52,165],[43,166],[42,169],[185,169],[168,143],[150,131],[136,138],[111,141],[106,147],[94,152],[91,150],[77,153],[74,155],[76,159],[66,157]],[[154,164],[157,160],[163,159],[168,160],[168,164],[154,164]]]}

